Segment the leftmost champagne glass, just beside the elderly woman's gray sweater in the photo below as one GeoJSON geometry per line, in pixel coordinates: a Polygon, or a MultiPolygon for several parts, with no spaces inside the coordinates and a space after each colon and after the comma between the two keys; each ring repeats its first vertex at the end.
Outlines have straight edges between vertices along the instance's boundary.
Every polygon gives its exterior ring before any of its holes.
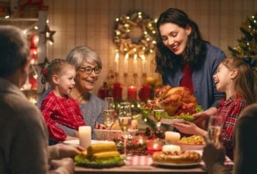
{"type": "MultiPolygon", "coordinates": [[[[107,129],[110,129],[110,126],[113,124],[113,120],[115,118],[115,104],[113,97],[105,97],[103,117],[105,119],[104,125],[106,125],[107,129]]],[[[107,140],[109,140],[109,131],[107,132],[107,140]]]]}

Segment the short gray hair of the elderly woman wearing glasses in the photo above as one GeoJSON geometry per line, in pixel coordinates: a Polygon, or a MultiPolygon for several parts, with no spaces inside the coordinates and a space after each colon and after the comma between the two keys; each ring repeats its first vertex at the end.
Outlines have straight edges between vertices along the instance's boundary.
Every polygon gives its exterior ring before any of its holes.
{"type": "Polygon", "coordinates": [[[75,66],[76,69],[81,66],[83,61],[87,63],[97,63],[101,68],[101,59],[92,49],[86,46],[78,46],[72,49],[67,55],[66,60],[75,66]]]}

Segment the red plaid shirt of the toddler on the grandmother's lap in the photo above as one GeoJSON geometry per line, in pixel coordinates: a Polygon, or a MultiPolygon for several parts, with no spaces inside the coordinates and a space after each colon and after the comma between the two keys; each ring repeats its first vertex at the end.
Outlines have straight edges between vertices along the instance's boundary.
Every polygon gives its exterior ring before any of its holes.
{"type": "Polygon", "coordinates": [[[67,135],[56,123],[78,130],[85,125],[78,102],[72,97],[56,96],[51,90],[41,105],[42,115],[47,123],[49,136],[56,141],[65,141],[67,135]]]}

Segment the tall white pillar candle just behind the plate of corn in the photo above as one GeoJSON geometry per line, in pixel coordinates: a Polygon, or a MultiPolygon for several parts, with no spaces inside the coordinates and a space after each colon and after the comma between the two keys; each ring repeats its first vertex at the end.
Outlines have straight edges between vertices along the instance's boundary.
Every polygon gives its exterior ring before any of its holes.
{"type": "Polygon", "coordinates": [[[80,126],[78,127],[78,139],[79,145],[83,148],[88,148],[91,145],[91,127],[90,126],[80,126]]]}

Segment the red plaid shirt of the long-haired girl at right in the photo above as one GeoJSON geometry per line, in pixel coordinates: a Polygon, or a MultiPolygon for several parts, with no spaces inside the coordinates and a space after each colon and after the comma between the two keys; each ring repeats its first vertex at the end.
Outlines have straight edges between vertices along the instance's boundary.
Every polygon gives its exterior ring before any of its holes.
{"type": "Polygon", "coordinates": [[[233,159],[233,130],[239,113],[245,106],[247,106],[247,103],[244,102],[240,95],[231,97],[229,100],[223,99],[218,104],[217,116],[222,116],[223,118],[221,138],[226,148],[226,155],[231,159],[233,159]]]}

